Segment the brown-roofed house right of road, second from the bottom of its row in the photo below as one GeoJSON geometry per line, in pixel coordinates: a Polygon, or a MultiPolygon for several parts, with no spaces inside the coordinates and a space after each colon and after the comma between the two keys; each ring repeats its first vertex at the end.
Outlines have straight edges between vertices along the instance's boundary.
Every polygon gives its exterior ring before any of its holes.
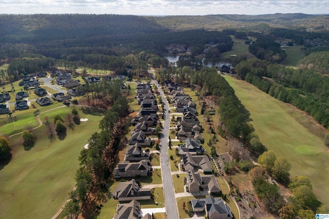
{"type": "Polygon", "coordinates": [[[205,189],[213,194],[220,194],[222,192],[214,175],[201,175],[194,170],[188,170],[186,172],[186,178],[189,192],[191,193],[200,192],[205,189]]]}

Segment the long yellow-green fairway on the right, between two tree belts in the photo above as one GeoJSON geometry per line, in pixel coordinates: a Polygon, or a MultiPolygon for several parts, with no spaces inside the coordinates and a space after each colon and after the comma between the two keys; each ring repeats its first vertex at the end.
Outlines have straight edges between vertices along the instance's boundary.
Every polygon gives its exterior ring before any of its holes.
{"type": "Polygon", "coordinates": [[[312,117],[282,103],[245,81],[225,77],[242,104],[249,110],[251,124],[260,141],[277,157],[291,164],[291,177],[306,175],[313,190],[326,208],[329,207],[329,149],[324,146],[326,130],[312,117]]]}

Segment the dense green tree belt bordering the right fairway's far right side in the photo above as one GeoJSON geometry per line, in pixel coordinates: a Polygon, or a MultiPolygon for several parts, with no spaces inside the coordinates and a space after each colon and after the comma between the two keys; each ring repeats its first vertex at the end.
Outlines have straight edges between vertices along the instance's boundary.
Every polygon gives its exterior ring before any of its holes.
{"type": "Polygon", "coordinates": [[[235,67],[237,78],[307,112],[324,127],[329,127],[329,77],[312,70],[292,69],[279,64],[249,59],[235,67]]]}

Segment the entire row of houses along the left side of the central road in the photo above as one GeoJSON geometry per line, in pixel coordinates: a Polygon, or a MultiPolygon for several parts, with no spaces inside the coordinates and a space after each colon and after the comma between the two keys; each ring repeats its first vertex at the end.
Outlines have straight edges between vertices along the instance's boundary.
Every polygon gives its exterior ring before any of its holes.
{"type": "MultiPolygon", "coordinates": [[[[114,177],[143,177],[152,172],[150,162],[150,151],[143,151],[142,146],[150,146],[151,138],[146,135],[155,133],[154,126],[157,125],[157,101],[150,84],[138,84],[136,86],[136,99],[141,109],[138,116],[131,122],[133,126],[129,145],[124,154],[124,161],[120,162],[114,169],[114,177]]],[[[141,216],[140,206],[137,200],[150,200],[151,189],[142,188],[138,180],[120,182],[113,192],[113,197],[119,202],[131,201],[126,204],[117,205],[117,218],[151,219],[150,214],[141,216]]]]}

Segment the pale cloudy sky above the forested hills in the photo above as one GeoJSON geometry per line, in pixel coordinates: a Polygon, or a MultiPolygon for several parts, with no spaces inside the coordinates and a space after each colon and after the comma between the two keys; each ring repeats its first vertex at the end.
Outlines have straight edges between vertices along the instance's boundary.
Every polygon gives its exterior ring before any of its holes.
{"type": "Polygon", "coordinates": [[[0,0],[0,14],[207,15],[329,13],[329,0],[0,0]]]}

